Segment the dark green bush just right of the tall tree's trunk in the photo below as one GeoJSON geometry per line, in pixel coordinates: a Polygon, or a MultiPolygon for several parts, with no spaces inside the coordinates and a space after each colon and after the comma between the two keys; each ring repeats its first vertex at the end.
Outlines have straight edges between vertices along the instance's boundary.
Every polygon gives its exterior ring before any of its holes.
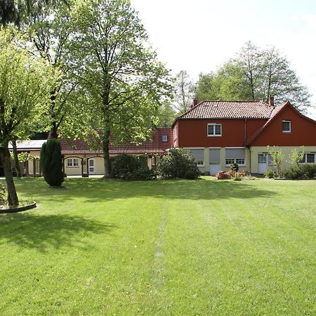
{"type": "Polygon", "coordinates": [[[142,164],[138,157],[129,154],[119,154],[111,160],[111,178],[122,180],[152,180],[154,178],[154,171],[142,164]]]}

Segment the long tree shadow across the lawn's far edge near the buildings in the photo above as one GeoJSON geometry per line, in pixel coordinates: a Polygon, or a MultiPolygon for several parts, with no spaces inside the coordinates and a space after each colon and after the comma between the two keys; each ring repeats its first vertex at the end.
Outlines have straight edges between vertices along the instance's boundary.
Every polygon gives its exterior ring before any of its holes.
{"type": "Polygon", "coordinates": [[[30,195],[35,201],[41,199],[55,202],[72,202],[84,198],[85,202],[103,202],[133,197],[155,197],[168,199],[250,199],[273,197],[277,192],[263,190],[251,181],[218,180],[153,180],[122,181],[98,178],[69,178],[65,190],[51,190],[42,179],[17,181],[19,191],[30,195]]]}

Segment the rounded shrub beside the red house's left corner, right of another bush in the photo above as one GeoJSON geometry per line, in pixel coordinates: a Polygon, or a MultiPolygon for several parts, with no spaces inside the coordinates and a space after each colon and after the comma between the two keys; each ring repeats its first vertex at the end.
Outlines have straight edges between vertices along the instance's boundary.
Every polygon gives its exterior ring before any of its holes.
{"type": "Polygon", "coordinates": [[[182,148],[171,148],[157,164],[157,175],[162,179],[196,179],[200,174],[191,152],[182,148]]]}

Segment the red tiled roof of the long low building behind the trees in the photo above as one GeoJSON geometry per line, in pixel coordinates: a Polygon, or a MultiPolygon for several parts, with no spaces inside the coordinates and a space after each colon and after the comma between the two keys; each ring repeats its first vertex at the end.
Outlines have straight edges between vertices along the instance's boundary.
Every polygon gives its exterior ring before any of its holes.
{"type": "MultiPolygon", "coordinates": [[[[152,131],[150,140],[145,140],[139,145],[135,143],[124,143],[121,145],[110,145],[110,154],[165,154],[172,147],[172,129],[157,129],[152,131]],[[162,141],[162,136],[167,136],[167,141],[162,141]]],[[[102,154],[101,143],[85,140],[60,140],[62,154],[102,154]]]]}

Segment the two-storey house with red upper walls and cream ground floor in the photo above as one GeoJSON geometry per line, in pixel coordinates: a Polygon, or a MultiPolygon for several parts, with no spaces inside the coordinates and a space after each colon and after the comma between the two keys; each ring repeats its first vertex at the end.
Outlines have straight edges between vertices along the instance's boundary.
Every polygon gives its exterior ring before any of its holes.
{"type": "Polygon", "coordinates": [[[172,124],[173,146],[189,149],[204,174],[239,169],[264,173],[272,167],[267,146],[277,146],[284,154],[283,167],[296,148],[315,163],[316,121],[298,112],[291,103],[278,107],[260,101],[204,101],[176,118],[172,124]]]}

